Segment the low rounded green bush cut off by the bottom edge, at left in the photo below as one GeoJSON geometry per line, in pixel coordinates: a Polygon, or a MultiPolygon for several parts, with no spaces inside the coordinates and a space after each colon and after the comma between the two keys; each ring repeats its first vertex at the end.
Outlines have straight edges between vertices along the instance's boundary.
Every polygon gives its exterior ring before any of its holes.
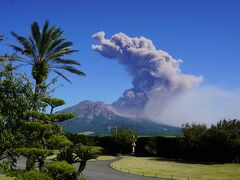
{"type": "Polygon", "coordinates": [[[52,180],[52,178],[45,173],[32,170],[22,173],[16,177],[16,180],[52,180]]]}

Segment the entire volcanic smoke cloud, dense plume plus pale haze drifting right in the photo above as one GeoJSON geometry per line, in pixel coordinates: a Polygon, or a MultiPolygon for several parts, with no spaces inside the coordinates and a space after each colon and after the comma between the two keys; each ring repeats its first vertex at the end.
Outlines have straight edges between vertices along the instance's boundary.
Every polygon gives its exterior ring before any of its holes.
{"type": "Polygon", "coordinates": [[[202,76],[184,74],[182,61],[158,50],[151,40],[124,33],[107,39],[104,32],[93,38],[98,41],[93,50],[117,60],[133,77],[133,87],[113,103],[113,110],[174,126],[240,118],[240,89],[198,86],[202,76]]]}

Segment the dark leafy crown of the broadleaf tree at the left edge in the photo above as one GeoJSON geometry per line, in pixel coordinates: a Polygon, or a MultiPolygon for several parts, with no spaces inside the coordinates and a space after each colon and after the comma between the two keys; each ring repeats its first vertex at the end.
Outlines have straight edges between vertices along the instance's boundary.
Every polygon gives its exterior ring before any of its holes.
{"type": "Polygon", "coordinates": [[[0,115],[6,129],[14,133],[32,108],[32,84],[25,74],[6,64],[0,72],[0,115]]]}

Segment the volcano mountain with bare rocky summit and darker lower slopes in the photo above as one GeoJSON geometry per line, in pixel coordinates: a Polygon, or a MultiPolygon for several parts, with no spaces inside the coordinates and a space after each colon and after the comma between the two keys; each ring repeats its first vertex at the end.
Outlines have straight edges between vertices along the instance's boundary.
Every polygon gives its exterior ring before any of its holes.
{"type": "Polygon", "coordinates": [[[109,134],[112,127],[135,130],[139,135],[177,135],[180,128],[158,124],[147,119],[126,117],[117,113],[111,105],[103,102],[82,101],[61,112],[74,113],[76,118],[60,123],[65,131],[72,133],[93,132],[109,134]]]}

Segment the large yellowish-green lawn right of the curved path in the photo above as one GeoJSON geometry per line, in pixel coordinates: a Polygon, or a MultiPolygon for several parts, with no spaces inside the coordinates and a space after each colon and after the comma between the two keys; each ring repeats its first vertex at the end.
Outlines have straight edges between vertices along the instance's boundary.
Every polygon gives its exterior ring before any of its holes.
{"type": "Polygon", "coordinates": [[[166,179],[240,179],[240,164],[191,164],[157,160],[149,157],[130,157],[114,162],[111,166],[123,172],[166,179]]]}

